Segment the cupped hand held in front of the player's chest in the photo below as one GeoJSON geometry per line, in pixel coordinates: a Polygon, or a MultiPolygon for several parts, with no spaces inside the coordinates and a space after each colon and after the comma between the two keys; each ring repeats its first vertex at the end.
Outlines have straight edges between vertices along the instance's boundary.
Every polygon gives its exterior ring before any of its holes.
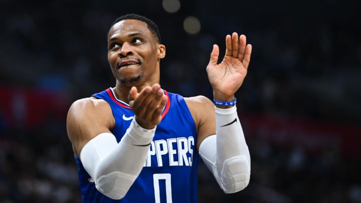
{"type": "Polygon", "coordinates": [[[128,95],[129,106],[135,114],[136,122],[145,129],[152,129],[161,121],[161,112],[167,97],[159,84],[145,87],[140,93],[132,87],[128,95]]]}

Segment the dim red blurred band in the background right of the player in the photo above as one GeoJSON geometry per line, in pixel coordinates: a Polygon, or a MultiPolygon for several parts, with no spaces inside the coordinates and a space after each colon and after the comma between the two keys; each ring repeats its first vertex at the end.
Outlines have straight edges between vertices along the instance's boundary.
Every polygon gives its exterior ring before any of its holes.
{"type": "Polygon", "coordinates": [[[283,147],[302,147],[307,151],[325,149],[344,156],[361,156],[361,127],[320,120],[276,115],[240,115],[247,139],[255,136],[283,147]]]}

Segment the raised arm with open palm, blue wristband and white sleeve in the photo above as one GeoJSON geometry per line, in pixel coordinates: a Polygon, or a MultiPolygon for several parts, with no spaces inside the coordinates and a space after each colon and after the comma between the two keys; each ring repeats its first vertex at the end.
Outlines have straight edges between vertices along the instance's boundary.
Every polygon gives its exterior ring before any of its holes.
{"type": "Polygon", "coordinates": [[[199,152],[226,193],[242,190],[250,180],[250,154],[237,114],[235,93],[246,77],[251,51],[246,36],[227,35],[223,61],[217,64],[219,47],[214,45],[207,66],[215,103],[216,135],[205,138],[199,152]]]}

